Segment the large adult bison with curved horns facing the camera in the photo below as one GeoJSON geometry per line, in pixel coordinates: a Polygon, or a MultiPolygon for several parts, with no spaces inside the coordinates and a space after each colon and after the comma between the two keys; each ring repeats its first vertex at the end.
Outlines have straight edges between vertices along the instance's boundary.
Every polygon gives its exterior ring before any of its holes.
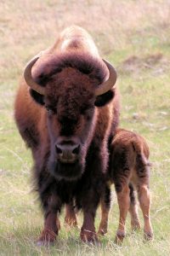
{"type": "Polygon", "coordinates": [[[54,241],[60,209],[72,200],[83,211],[82,241],[97,239],[94,217],[119,119],[115,84],[115,69],[78,26],[26,65],[14,108],[44,211],[40,244],[54,241]]]}

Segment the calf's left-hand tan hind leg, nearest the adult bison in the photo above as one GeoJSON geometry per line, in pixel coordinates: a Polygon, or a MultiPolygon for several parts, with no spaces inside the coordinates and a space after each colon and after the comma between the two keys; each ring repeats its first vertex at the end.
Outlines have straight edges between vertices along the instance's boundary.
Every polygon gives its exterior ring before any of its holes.
{"type": "Polygon", "coordinates": [[[125,222],[127,218],[129,205],[130,205],[130,198],[129,198],[130,189],[127,183],[122,183],[122,184],[116,183],[115,186],[116,186],[116,195],[117,195],[117,201],[118,201],[119,212],[120,212],[119,225],[116,231],[116,243],[120,243],[123,241],[123,238],[125,237],[125,222]]]}

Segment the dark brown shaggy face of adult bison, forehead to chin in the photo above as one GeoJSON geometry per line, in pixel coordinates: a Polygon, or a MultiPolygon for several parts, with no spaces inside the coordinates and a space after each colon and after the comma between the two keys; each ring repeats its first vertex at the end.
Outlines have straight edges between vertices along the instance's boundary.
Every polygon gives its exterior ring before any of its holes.
{"type": "Polygon", "coordinates": [[[45,106],[51,147],[48,169],[58,179],[75,180],[84,171],[97,110],[93,93],[78,84],[69,83],[65,88],[62,84],[57,85],[59,91],[55,95],[50,83],[47,86],[45,106]]]}

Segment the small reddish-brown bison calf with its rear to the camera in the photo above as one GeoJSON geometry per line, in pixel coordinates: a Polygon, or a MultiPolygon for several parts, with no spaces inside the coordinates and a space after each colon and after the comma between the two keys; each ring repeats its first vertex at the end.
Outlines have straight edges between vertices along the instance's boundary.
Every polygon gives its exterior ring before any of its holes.
{"type": "Polygon", "coordinates": [[[144,237],[153,238],[150,224],[149,147],[138,134],[118,129],[111,143],[111,181],[116,188],[120,218],[116,242],[125,236],[127,212],[131,215],[132,229],[140,227],[137,204],[133,189],[137,190],[139,205],[144,216],[144,237]]]}

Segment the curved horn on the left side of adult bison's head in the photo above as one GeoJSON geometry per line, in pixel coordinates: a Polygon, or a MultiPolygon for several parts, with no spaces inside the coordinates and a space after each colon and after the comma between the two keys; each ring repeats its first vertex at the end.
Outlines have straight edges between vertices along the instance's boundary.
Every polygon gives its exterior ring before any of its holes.
{"type": "Polygon", "coordinates": [[[29,61],[26,64],[25,70],[24,70],[24,78],[26,80],[26,84],[28,84],[32,90],[36,90],[39,94],[44,95],[45,94],[45,88],[41,85],[37,84],[31,76],[31,68],[34,66],[36,61],[42,56],[44,51],[41,51],[38,55],[34,56],[31,61],[29,61]]]}

